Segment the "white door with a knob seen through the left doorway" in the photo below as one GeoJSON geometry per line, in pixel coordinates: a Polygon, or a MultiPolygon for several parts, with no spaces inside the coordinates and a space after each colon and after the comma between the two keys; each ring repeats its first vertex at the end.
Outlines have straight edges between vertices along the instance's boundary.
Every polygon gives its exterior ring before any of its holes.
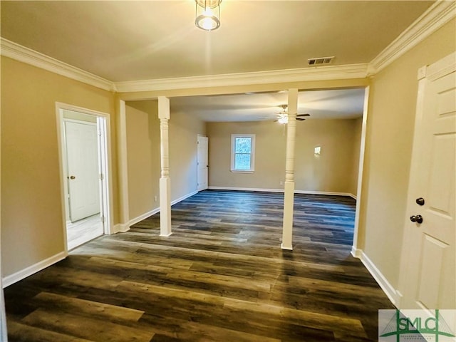
{"type": "Polygon", "coordinates": [[[94,123],[65,122],[71,222],[100,212],[98,139],[94,123]]]}

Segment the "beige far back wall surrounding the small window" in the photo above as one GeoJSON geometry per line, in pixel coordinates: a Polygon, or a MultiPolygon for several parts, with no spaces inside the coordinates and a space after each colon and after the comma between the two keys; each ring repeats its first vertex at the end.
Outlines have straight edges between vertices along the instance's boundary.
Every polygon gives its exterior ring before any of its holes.
{"type": "MultiPolygon", "coordinates": [[[[351,192],[359,120],[306,120],[297,123],[296,190],[351,192]],[[321,146],[321,155],[314,147],[321,146]]],[[[273,122],[207,123],[209,136],[209,186],[283,189],[286,135],[273,122]],[[232,134],[256,135],[255,172],[230,171],[232,134]],[[282,184],[281,184],[282,182],[282,184]]],[[[359,147],[358,147],[359,154],[359,147]]]]}

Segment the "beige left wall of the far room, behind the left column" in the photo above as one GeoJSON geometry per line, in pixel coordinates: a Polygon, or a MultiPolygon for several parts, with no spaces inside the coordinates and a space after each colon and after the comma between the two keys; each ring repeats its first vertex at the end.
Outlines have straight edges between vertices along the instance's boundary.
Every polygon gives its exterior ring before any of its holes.
{"type": "MultiPolygon", "coordinates": [[[[128,101],[125,105],[128,207],[132,220],[160,207],[160,120],[157,100],[128,101]]],[[[172,201],[197,191],[198,134],[206,134],[201,120],[185,113],[170,113],[172,201]]]]}

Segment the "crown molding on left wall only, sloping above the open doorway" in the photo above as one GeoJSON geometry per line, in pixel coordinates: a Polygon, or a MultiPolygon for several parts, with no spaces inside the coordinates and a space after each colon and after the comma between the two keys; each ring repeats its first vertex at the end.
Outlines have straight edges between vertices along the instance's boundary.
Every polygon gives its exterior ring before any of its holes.
{"type": "Polygon", "coordinates": [[[14,43],[13,41],[9,41],[8,39],[1,37],[0,54],[1,56],[9,57],[16,61],[51,71],[52,73],[57,73],[58,75],[90,84],[90,86],[109,91],[115,90],[114,83],[106,80],[105,78],[96,76],[93,73],[88,73],[80,68],[58,61],[56,58],[46,56],[43,53],[39,53],[31,48],[26,48],[25,46],[21,46],[18,43],[14,43]]]}

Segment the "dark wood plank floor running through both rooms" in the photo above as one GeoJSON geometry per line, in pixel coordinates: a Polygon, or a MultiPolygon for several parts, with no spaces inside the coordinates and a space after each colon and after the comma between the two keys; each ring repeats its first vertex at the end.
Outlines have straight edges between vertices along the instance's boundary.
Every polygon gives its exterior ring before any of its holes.
{"type": "Polygon", "coordinates": [[[296,195],[294,251],[280,249],[283,195],[199,192],[5,289],[10,341],[378,341],[394,309],[351,257],[355,201],[296,195]]]}

